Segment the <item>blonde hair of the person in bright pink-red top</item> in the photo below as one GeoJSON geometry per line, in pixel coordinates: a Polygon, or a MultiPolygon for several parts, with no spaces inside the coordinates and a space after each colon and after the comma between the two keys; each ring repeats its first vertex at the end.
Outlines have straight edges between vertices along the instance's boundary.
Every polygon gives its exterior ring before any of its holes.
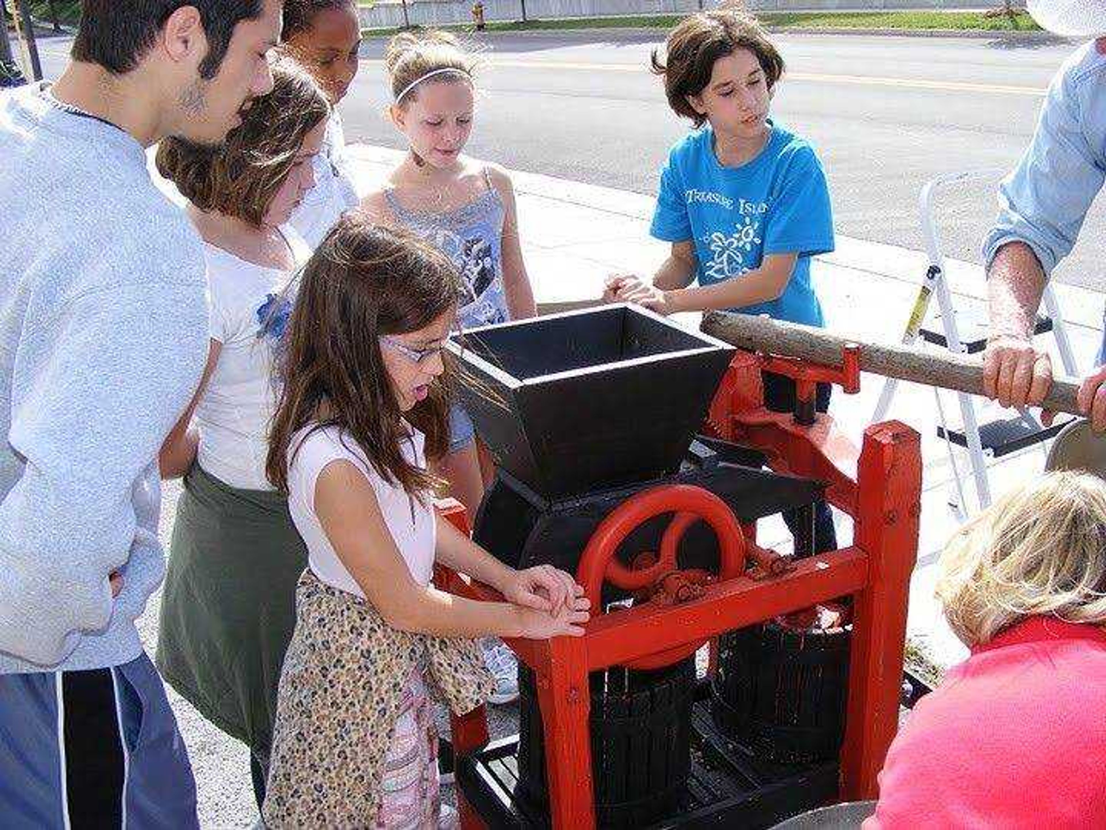
{"type": "Polygon", "coordinates": [[[1003,497],[946,546],[937,596],[969,646],[1027,616],[1106,623],[1106,481],[1050,473],[1003,497]]]}

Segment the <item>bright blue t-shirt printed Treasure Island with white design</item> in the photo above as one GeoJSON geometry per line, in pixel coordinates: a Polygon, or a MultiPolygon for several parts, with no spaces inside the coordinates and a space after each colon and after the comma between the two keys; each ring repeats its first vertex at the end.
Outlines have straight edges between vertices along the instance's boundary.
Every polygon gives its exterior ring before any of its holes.
{"type": "Polygon", "coordinates": [[[667,242],[695,242],[700,286],[755,270],[769,253],[797,253],[778,299],[734,310],[822,325],[811,257],[834,247],[830,190],[811,145],[770,126],[764,149],[740,167],[719,164],[710,125],[677,143],[660,173],[649,232],[667,242]]]}

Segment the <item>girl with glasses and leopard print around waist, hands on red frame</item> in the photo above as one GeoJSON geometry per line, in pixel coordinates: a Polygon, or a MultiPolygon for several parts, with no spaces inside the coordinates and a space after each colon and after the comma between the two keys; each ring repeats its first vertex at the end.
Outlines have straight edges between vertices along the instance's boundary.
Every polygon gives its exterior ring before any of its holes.
{"type": "Polygon", "coordinates": [[[357,211],[301,278],[268,474],[310,567],[280,682],[270,828],[436,827],[427,687],[471,710],[491,687],[474,637],[578,635],[588,619],[567,573],[517,571],[435,519],[426,458],[448,447],[456,308],[444,255],[357,211]],[[505,602],[437,590],[436,561],[505,602]]]}

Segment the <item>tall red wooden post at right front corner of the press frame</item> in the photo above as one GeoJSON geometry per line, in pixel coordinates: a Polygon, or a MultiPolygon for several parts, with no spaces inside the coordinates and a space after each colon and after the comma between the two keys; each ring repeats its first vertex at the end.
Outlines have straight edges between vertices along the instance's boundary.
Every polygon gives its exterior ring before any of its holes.
{"type": "Polygon", "coordinates": [[[841,756],[842,797],[878,795],[876,777],[898,727],[910,574],[918,556],[921,454],[918,434],[898,422],[864,434],[856,546],[868,556],[868,581],[855,595],[848,719],[841,756]]]}

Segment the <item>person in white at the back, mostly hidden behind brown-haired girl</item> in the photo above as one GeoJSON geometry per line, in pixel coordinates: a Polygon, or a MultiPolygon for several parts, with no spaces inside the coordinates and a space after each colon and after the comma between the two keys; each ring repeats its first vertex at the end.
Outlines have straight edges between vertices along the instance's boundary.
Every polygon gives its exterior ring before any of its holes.
{"type": "Polygon", "coordinates": [[[288,53],[314,76],[331,102],[322,152],[314,159],[315,186],[291,220],[314,249],[338,217],[357,206],[337,108],[359,65],[357,3],[354,0],[285,0],[281,41],[288,53]]]}

